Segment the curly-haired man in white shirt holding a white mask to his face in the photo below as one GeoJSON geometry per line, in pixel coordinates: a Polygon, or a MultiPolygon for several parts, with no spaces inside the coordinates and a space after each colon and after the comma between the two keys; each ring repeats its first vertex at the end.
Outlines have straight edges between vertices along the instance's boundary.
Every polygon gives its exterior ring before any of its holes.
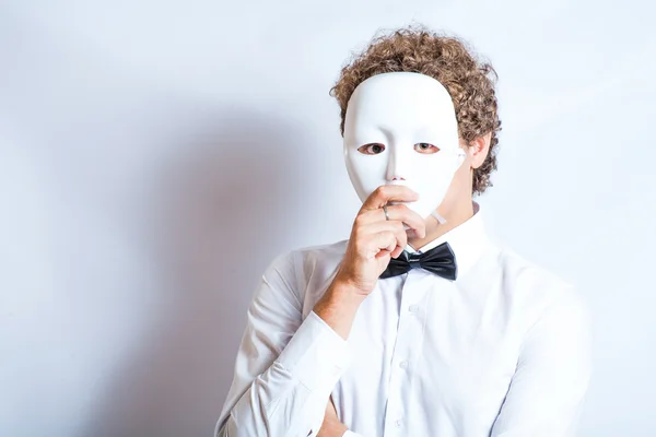
{"type": "Polygon", "coordinates": [[[422,28],[342,69],[331,94],[363,205],[348,240],[265,271],[215,435],[575,433],[586,306],[492,243],[472,200],[496,168],[493,72],[422,28]]]}

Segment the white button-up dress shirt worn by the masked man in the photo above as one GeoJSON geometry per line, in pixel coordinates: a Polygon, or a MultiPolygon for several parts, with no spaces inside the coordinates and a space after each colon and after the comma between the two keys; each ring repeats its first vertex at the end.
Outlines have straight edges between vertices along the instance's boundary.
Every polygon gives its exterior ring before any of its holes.
{"type": "Polygon", "coordinates": [[[457,280],[423,269],[379,280],[348,341],[313,311],[348,240],[278,256],[248,309],[215,436],[316,436],[330,395],[344,436],[575,435],[590,377],[587,306],[492,243],[473,206],[420,250],[448,241],[457,280]]]}

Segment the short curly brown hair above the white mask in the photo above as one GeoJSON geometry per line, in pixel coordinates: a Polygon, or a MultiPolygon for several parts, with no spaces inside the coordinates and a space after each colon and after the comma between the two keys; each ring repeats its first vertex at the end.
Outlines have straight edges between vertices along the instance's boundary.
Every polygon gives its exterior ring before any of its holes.
{"type": "MultiPolygon", "coordinates": [[[[383,31],[385,32],[385,31],[383,31]]],[[[491,132],[490,151],[483,164],[473,170],[472,193],[492,186],[496,169],[501,120],[496,110],[494,85],[496,71],[487,60],[478,59],[471,46],[454,35],[438,34],[424,25],[410,25],[389,34],[374,35],[361,54],[351,54],[340,76],[330,88],[341,108],[340,131],[344,134],[347,104],[355,87],[380,73],[410,71],[430,75],[448,91],[456,109],[459,137],[471,144],[491,132]]]]}

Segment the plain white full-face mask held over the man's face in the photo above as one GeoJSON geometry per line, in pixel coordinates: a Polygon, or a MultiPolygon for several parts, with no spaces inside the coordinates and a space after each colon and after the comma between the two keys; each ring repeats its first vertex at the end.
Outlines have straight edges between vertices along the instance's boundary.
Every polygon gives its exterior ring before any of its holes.
{"type": "Polygon", "coordinates": [[[378,186],[406,185],[419,200],[389,204],[405,203],[422,218],[433,214],[442,222],[435,210],[465,160],[450,95],[420,73],[366,79],[347,106],[344,160],[363,202],[378,186]]]}

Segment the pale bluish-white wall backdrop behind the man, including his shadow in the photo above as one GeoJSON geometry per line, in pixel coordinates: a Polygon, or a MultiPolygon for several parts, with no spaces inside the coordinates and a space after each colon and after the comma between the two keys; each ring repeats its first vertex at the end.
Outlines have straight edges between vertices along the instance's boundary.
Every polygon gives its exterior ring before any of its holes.
{"type": "Polygon", "coordinates": [[[211,435],[265,267],[347,238],[358,211],[328,91],[351,50],[412,20],[499,72],[500,166],[479,200],[499,240],[593,309],[582,435],[656,435],[655,15],[0,2],[0,435],[211,435]]]}

